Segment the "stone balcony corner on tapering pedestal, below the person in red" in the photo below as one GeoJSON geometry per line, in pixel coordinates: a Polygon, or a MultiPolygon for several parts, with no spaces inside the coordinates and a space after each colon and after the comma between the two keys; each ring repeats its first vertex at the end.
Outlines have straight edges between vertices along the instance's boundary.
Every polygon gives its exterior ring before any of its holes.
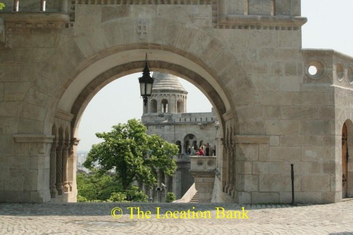
{"type": "Polygon", "coordinates": [[[199,202],[211,202],[215,184],[216,156],[190,156],[190,173],[195,179],[195,188],[199,193],[199,202]]]}

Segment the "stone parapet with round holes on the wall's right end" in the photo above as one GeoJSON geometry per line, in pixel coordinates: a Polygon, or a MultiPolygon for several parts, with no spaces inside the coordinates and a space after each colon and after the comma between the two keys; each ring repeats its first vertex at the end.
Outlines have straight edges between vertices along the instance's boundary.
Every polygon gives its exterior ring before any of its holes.
{"type": "Polygon", "coordinates": [[[353,57],[331,49],[301,49],[304,84],[353,88],[353,57]]]}

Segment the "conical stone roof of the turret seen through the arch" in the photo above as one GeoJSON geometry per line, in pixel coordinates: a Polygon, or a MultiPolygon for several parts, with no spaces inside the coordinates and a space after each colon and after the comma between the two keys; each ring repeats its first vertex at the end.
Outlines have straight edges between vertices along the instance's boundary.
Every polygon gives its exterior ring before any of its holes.
{"type": "Polygon", "coordinates": [[[180,84],[179,78],[172,74],[153,72],[152,77],[155,79],[152,91],[157,90],[174,90],[180,92],[186,92],[185,88],[180,84]]]}

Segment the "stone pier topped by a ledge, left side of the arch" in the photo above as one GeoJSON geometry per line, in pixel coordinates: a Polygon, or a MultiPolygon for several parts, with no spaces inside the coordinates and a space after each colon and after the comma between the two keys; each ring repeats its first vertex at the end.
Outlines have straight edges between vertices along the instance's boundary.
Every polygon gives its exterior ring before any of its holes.
{"type": "Polygon", "coordinates": [[[10,178],[0,200],[16,203],[45,203],[50,201],[50,148],[54,136],[16,134],[10,178]]]}

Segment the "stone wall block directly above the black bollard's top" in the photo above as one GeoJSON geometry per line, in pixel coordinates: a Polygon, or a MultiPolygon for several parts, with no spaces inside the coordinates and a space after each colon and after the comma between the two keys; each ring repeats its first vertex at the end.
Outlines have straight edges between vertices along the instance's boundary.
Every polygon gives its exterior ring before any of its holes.
{"type": "Polygon", "coordinates": [[[270,147],[270,161],[299,161],[300,147],[270,147]]]}

